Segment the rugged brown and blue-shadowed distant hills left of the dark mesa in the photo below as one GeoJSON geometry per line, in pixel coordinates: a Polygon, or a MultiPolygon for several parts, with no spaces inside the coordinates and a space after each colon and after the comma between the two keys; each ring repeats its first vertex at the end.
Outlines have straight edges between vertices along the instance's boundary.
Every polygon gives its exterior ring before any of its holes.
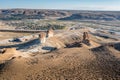
{"type": "Polygon", "coordinates": [[[21,20],[21,19],[45,19],[64,17],[69,15],[67,11],[40,10],[40,9],[5,9],[0,10],[0,20],[21,20]]]}

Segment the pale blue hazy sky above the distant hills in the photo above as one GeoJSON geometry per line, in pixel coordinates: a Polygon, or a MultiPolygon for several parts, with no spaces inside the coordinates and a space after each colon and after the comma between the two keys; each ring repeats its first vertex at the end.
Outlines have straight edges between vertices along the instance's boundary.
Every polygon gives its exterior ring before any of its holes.
{"type": "Polygon", "coordinates": [[[0,0],[0,8],[120,10],[120,0],[0,0]]]}

